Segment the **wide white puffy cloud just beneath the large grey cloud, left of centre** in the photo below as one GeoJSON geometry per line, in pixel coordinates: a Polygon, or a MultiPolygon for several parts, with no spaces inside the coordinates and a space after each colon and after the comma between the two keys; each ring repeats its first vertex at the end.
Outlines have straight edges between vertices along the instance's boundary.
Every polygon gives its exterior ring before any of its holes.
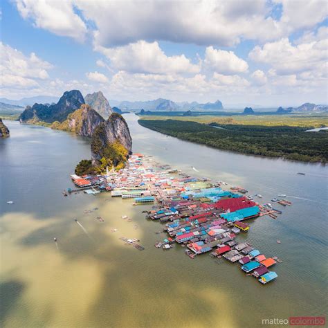
{"type": "Polygon", "coordinates": [[[129,73],[197,73],[200,69],[185,55],[165,55],[158,42],[138,41],[116,48],[96,46],[95,50],[106,55],[113,68],[129,73]]]}

